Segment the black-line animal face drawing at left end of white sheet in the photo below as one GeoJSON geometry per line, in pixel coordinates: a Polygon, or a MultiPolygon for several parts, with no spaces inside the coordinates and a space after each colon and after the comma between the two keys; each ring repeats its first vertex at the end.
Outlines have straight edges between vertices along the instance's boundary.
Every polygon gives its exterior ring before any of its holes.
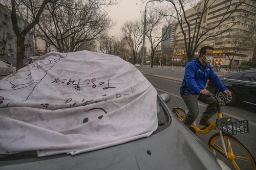
{"type": "Polygon", "coordinates": [[[48,70],[50,70],[56,63],[58,63],[61,58],[66,58],[66,57],[67,55],[64,57],[62,55],[56,54],[56,55],[47,57],[44,60],[38,60],[35,63],[31,63],[28,66],[27,70],[19,70],[14,75],[8,77],[6,81],[9,82],[9,87],[6,89],[0,89],[0,92],[2,90],[16,92],[15,90],[23,90],[23,88],[30,86],[28,88],[29,90],[26,90],[26,94],[24,94],[23,101],[28,100],[29,96],[35,89],[35,86],[45,78],[48,70]],[[45,69],[40,69],[40,68],[45,68],[45,69]],[[41,74],[42,71],[45,71],[45,73],[41,74]]]}

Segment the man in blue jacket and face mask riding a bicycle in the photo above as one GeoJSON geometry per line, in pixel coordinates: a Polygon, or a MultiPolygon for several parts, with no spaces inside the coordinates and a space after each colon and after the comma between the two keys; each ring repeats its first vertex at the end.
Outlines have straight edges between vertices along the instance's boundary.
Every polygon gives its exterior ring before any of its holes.
{"type": "Polygon", "coordinates": [[[231,95],[231,92],[222,84],[209,64],[212,60],[213,52],[214,48],[211,46],[202,47],[199,52],[199,57],[191,60],[185,67],[180,94],[188,108],[188,114],[184,119],[184,124],[187,127],[190,127],[198,116],[198,101],[208,104],[205,112],[203,112],[201,116],[199,125],[208,127],[211,124],[209,118],[218,111],[216,99],[207,95],[211,94],[205,89],[207,80],[214,83],[218,90],[227,95],[231,95]]]}

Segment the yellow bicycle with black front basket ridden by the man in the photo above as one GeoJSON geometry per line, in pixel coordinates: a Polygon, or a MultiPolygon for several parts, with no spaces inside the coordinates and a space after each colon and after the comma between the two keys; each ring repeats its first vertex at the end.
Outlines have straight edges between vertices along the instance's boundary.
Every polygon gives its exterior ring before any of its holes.
{"type": "MultiPolygon", "coordinates": [[[[223,117],[221,106],[224,106],[225,102],[220,102],[215,95],[211,96],[218,101],[218,118],[208,127],[200,129],[194,122],[189,129],[194,133],[204,135],[218,128],[220,132],[212,135],[208,141],[210,150],[231,169],[256,170],[255,160],[251,153],[237,138],[232,136],[235,134],[247,133],[249,131],[248,120],[223,117]]],[[[183,121],[186,116],[186,111],[181,107],[173,108],[173,113],[180,121],[183,121]]]]}

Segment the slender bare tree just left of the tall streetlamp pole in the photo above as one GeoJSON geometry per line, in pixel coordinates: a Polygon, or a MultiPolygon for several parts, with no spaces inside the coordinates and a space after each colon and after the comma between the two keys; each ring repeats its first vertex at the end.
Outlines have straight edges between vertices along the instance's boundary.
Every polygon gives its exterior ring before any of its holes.
{"type": "Polygon", "coordinates": [[[124,39],[133,53],[133,64],[135,64],[138,50],[142,42],[141,25],[138,21],[127,21],[121,28],[124,39]]]}

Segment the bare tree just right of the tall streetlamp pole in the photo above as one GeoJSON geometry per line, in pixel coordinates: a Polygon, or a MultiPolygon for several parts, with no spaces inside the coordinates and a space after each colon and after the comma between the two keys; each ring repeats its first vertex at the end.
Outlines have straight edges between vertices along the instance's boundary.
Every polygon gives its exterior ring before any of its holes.
{"type": "Polygon", "coordinates": [[[170,38],[170,29],[173,21],[171,16],[162,15],[161,9],[150,9],[146,17],[146,37],[151,45],[151,67],[153,67],[154,54],[159,44],[170,38]],[[162,32],[159,30],[162,30],[162,32]]]}

